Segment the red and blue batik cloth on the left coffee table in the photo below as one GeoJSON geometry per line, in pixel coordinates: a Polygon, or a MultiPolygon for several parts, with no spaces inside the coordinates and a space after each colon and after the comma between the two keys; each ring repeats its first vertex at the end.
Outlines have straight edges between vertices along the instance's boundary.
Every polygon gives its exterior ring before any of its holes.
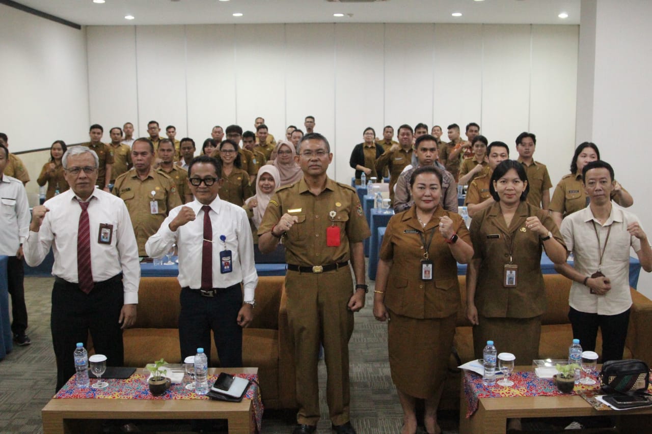
{"type": "MultiPolygon", "coordinates": [[[[263,402],[261,401],[260,389],[258,387],[257,374],[235,374],[237,377],[251,380],[251,384],[244,394],[244,399],[251,399],[254,404],[253,418],[256,422],[258,432],[261,431],[263,420],[263,402]],[[255,382],[255,383],[254,383],[255,382]]],[[[216,375],[208,375],[209,386],[212,386],[217,379],[216,375]]],[[[143,373],[134,373],[128,379],[103,379],[109,385],[103,389],[76,388],[75,377],[73,376],[66,383],[54,398],[102,398],[102,399],[210,399],[205,395],[198,395],[194,390],[188,390],[183,384],[172,384],[161,396],[153,396],[149,393],[147,378],[143,373]]],[[[91,379],[91,384],[96,379],[91,379]]]]}

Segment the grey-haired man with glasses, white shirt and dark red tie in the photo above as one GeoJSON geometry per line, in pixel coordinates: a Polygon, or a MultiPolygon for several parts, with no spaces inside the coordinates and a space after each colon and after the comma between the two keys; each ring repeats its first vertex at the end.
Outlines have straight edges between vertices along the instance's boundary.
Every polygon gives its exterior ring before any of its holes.
{"type": "Polygon", "coordinates": [[[136,322],[140,264],[129,212],[119,197],[95,188],[98,158],[87,147],[63,155],[70,190],[35,207],[23,244],[25,261],[36,267],[54,253],[52,345],[57,358],[57,390],[75,373],[77,342],[108,366],[123,366],[122,331],[136,322]]]}

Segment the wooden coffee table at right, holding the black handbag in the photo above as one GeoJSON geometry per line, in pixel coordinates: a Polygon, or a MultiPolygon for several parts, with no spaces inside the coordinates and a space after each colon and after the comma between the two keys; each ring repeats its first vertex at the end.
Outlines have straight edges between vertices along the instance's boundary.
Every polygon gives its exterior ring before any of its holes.
{"type": "MultiPolygon", "coordinates": [[[[528,371],[531,366],[516,366],[514,371],[528,371]]],[[[507,431],[509,418],[552,418],[572,416],[618,416],[621,433],[645,433],[652,426],[652,407],[626,411],[597,411],[584,398],[568,396],[519,396],[514,398],[480,398],[478,409],[466,418],[468,403],[464,396],[464,375],[460,388],[460,433],[496,434],[507,431]]]]}

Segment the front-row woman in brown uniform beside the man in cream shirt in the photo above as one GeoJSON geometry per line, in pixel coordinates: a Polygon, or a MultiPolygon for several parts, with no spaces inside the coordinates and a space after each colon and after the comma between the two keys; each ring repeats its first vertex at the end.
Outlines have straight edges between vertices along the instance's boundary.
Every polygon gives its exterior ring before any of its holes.
{"type": "Polygon", "coordinates": [[[493,340],[499,352],[513,353],[517,364],[528,365],[539,356],[546,310],[542,248],[560,264],[566,262],[566,247],[548,212],[526,202],[529,186],[519,162],[499,164],[489,188],[496,203],[471,222],[475,254],[466,290],[473,350],[482,358],[486,341],[493,340]]]}

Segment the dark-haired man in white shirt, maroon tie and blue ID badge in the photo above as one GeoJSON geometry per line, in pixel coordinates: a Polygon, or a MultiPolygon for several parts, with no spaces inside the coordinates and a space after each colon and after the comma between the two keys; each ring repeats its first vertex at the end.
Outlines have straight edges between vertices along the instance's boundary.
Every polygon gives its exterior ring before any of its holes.
{"type": "Polygon", "coordinates": [[[201,347],[210,364],[213,330],[220,366],[226,368],[243,364],[243,328],[253,318],[258,274],[249,220],[243,208],[218,196],[221,175],[215,158],[194,158],[188,183],[195,200],[171,210],[145,250],[151,257],[164,255],[172,244],[179,250],[181,359],[201,347]]]}

